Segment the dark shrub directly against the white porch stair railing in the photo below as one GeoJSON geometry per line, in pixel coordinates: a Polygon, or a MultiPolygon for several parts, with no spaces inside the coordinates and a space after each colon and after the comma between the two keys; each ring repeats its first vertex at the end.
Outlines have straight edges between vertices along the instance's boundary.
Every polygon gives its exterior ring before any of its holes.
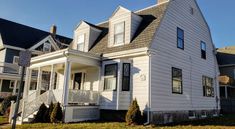
{"type": "Polygon", "coordinates": [[[44,123],[45,121],[44,121],[43,117],[44,117],[46,111],[47,111],[47,107],[44,103],[42,103],[39,110],[38,110],[38,112],[37,112],[37,114],[36,114],[36,116],[35,116],[35,118],[34,118],[33,122],[35,122],[35,123],[44,123]]]}

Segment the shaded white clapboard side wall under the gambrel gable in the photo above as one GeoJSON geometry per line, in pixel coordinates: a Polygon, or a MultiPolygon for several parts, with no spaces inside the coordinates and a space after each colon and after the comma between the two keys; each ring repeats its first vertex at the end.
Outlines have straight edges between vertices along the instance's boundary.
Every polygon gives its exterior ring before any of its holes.
{"type": "Polygon", "coordinates": [[[174,0],[169,4],[151,49],[155,52],[151,57],[152,111],[217,108],[218,67],[213,43],[194,0],[174,0]],[[184,50],[177,48],[177,27],[184,30],[184,50]],[[201,41],[206,43],[206,60],[201,58],[201,41]],[[182,69],[183,94],[172,93],[172,67],[182,69]],[[215,97],[203,96],[202,76],[213,78],[215,97]]]}

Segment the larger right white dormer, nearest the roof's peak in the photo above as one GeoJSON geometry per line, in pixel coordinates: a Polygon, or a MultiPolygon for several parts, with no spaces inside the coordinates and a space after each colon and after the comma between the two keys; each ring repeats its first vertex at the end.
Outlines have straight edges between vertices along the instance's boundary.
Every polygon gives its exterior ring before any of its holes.
{"type": "Polygon", "coordinates": [[[109,19],[109,47],[129,44],[142,17],[119,6],[109,19]]]}

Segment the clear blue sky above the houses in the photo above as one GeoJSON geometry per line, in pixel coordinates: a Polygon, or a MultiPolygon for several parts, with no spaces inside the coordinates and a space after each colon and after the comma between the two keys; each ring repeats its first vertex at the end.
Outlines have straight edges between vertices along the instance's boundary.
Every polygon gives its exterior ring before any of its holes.
{"type": "MultiPolygon", "coordinates": [[[[211,28],[216,47],[235,45],[235,0],[197,0],[211,28]]],[[[0,17],[42,30],[52,24],[58,33],[73,36],[80,20],[107,20],[118,5],[138,10],[156,0],[1,0],[0,17]]]]}

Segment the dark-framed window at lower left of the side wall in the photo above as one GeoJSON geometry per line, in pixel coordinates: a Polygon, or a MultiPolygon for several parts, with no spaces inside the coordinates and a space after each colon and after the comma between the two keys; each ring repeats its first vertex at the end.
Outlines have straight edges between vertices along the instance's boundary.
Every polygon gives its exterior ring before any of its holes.
{"type": "Polygon", "coordinates": [[[172,68],[172,93],[183,93],[182,70],[178,68],[172,68]]]}

